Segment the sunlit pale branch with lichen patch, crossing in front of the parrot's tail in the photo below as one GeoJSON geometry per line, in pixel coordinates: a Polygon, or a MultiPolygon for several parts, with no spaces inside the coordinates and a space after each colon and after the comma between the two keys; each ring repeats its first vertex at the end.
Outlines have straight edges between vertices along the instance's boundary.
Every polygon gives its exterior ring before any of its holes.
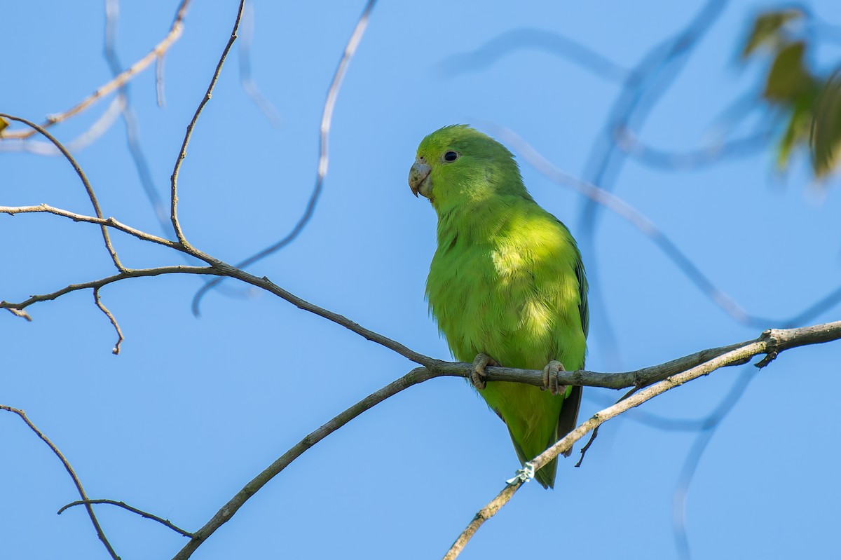
{"type": "Polygon", "coordinates": [[[444,556],[447,560],[451,560],[458,556],[463,547],[467,544],[470,538],[479,530],[485,520],[494,515],[500,508],[508,503],[514,496],[517,489],[520,489],[522,483],[533,477],[534,471],[542,468],[547,462],[552,461],[558,457],[559,453],[565,452],[572,448],[575,441],[579,441],[582,437],[590,431],[595,430],[598,426],[604,424],[607,420],[621,415],[628,409],[643,404],[649,399],[653,399],[659,394],[663,394],[669,389],[679,387],[680,385],[690,382],[693,379],[708,375],[720,367],[733,366],[748,361],[751,357],[764,354],[765,357],[756,364],[757,367],[764,367],[770,363],[781,351],[796,346],[805,346],[809,344],[821,344],[823,342],[835,341],[841,338],[841,321],[834,323],[827,323],[824,325],[814,325],[809,327],[801,327],[800,329],[790,330],[765,330],[762,335],[754,341],[743,342],[736,345],[733,350],[727,351],[718,357],[712,358],[708,362],[703,362],[695,367],[690,367],[684,372],[677,373],[673,376],[664,378],[658,383],[654,383],[646,388],[637,391],[623,399],[620,402],[600,410],[591,416],[589,420],[584,421],[581,425],[575,428],[574,431],[549,447],[545,452],[526,462],[526,467],[521,469],[517,478],[512,479],[510,483],[502,492],[491,502],[479,511],[473,520],[468,525],[468,528],[463,531],[462,535],[453,544],[447,554],[444,556]],[[527,473],[531,472],[532,477],[527,473]],[[506,492],[507,490],[507,492],[506,492]],[[489,510],[489,506],[493,505],[489,510]]]}

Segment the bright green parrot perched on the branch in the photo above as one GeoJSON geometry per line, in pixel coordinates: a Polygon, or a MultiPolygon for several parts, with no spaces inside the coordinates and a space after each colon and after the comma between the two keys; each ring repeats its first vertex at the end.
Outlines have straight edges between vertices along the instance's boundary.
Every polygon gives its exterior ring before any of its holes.
{"type": "MultiPolygon", "coordinates": [[[[526,462],[578,419],[581,388],[557,382],[559,370],[584,367],[589,314],[578,246],[526,191],[510,151],[466,125],[421,141],[409,185],[438,214],[431,314],[453,356],[473,362],[473,386],[526,462]],[[542,369],[544,387],[485,383],[488,365],[542,369]]],[[[549,462],[535,478],[552,488],[557,470],[549,462]]]]}

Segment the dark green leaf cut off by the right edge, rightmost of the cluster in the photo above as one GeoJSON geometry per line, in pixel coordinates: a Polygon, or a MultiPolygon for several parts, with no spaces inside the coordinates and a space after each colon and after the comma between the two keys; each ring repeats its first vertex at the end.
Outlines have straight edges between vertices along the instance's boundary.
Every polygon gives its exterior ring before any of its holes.
{"type": "Polygon", "coordinates": [[[829,77],[817,95],[809,147],[816,177],[824,177],[838,166],[841,156],[841,69],[829,77]]]}

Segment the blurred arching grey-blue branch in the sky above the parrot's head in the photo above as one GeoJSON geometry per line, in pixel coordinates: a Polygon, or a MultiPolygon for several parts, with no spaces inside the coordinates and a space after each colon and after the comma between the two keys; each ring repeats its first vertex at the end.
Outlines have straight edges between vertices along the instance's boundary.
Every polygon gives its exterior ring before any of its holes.
{"type": "Polygon", "coordinates": [[[611,81],[629,80],[632,71],[600,55],[590,47],[562,34],[532,27],[510,29],[471,52],[448,56],[439,65],[443,75],[452,77],[466,71],[482,71],[515,50],[542,50],[563,56],[596,76],[611,81]]]}

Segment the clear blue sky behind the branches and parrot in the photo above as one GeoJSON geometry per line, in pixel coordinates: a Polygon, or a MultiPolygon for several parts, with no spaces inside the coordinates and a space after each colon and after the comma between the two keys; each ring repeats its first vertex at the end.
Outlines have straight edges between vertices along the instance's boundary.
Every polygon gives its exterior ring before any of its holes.
{"type": "MultiPolygon", "coordinates": [[[[361,2],[254,3],[251,65],[280,115],[247,98],[231,55],[193,135],[180,179],[182,226],[199,249],[237,262],[294,225],[315,181],[326,87],[361,2]]],[[[731,2],[664,92],[643,128],[650,145],[690,150],[734,100],[759,87],[762,65],[736,62],[749,19],[764,3],[731,2]]],[[[832,0],[810,3],[841,24],[832,0]]],[[[506,127],[576,177],[602,134],[619,86],[557,53],[518,49],[490,66],[442,71],[452,55],[511,29],[541,29],[630,67],[674,34],[697,3],[379,3],[336,104],[331,161],[313,219],[292,246],[250,268],[259,276],[432,357],[447,345],[427,313],[426,272],[435,214],[406,177],[424,135],[445,124],[506,127]]],[[[155,45],[175,3],[124,3],[124,66],[155,45]]],[[[131,82],[140,142],[155,188],[167,195],[183,131],[230,34],[236,3],[196,3],[167,53],[166,105],[154,70],[131,82]]],[[[6,86],[0,111],[40,121],[71,107],[110,72],[102,3],[72,10],[5,3],[6,86]]],[[[815,53],[841,59],[838,43],[815,53]]],[[[110,99],[53,129],[70,141],[110,99]]],[[[740,129],[770,120],[756,112],[740,129]]],[[[2,147],[2,146],[0,146],[2,147]]],[[[103,212],[161,234],[118,121],[76,156],[103,212]]],[[[50,203],[83,214],[89,203],[63,159],[0,151],[0,204],[50,203]]],[[[579,195],[521,160],[544,208],[580,235],[579,195]]],[[[807,158],[785,175],[758,151],[692,171],[629,159],[615,192],[659,226],[743,308],[780,321],[838,284],[838,179],[812,182],[807,158]]],[[[184,263],[125,235],[130,267],[184,263]]],[[[645,367],[748,340],[652,242],[602,212],[584,261],[593,302],[588,367],[645,367]],[[618,355],[608,349],[607,316],[618,355]]],[[[0,299],[19,301],[113,273],[98,229],[46,215],[0,216],[0,299]]],[[[114,330],[89,291],[29,308],[33,322],[0,314],[0,404],[25,409],[76,469],[92,498],[124,500],[195,530],[301,437],[413,364],[267,293],[226,282],[190,301],[201,279],[167,276],[103,288],[114,330]]],[[[811,322],[833,320],[827,309],[811,322]]],[[[769,323],[767,327],[778,326],[769,323]]],[[[755,376],[711,440],[690,485],[686,520],[693,557],[828,557],[841,486],[835,395],[838,345],[785,352],[755,376]],[[771,538],[769,538],[771,536],[771,538]]],[[[671,419],[703,418],[751,366],[728,368],[644,404],[671,419]]],[[[618,394],[588,389],[581,418],[618,394]]],[[[0,539],[9,558],[106,557],[44,444],[0,415],[0,539]]],[[[554,492],[530,483],[486,524],[464,558],[515,554],[676,557],[672,500],[696,432],[627,418],[602,427],[581,468],[561,462],[554,492]]],[[[577,457],[578,453],[574,453],[577,457]]],[[[306,452],[251,499],[196,558],[440,557],[476,510],[518,468],[504,425],[462,381],[436,379],[362,415],[306,452]]],[[[98,516],[123,558],[172,557],[185,539],[123,510],[98,516]]]]}

